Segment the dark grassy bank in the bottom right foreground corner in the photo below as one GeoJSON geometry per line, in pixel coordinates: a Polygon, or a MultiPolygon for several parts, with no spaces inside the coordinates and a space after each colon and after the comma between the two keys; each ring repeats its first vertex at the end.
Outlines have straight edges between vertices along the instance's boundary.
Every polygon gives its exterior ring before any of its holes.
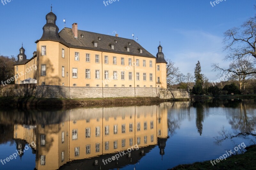
{"type": "Polygon", "coordinates": [[[216,163],[216,165],[212,166],[210,161],[205,162],[196,162],[194,164],[189,165],[179,165],[174,168],[173,170],[181,170],[181,169],[201,169],[201,170],[208,170],[208,169],[256,169],[256,145],[252,145],[250,147],[245,148],[247,152],[240,154],[240,155],[234,155],[230,158],[227,158],[227,160],[222,160],[219,163],[216,163]]]}

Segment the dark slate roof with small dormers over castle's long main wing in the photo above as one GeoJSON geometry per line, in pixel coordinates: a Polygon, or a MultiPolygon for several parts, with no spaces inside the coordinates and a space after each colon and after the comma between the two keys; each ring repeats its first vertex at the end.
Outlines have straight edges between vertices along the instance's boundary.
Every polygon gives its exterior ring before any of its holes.
{"type": "Polygon", "coordinates": [[[146,49],[144,49],[139,43],[131,39],[82,30],[78,30],[78,38],[75,39],[71,28],[63,28],[60,31],[59,36],[61,43],[70,48],[89,49],[95,51],[156,58],[154,55],[150,54],[146,49]],[[82,34],[84,35],[84,38],[82,38],[82,34]],[[98,47],[94,47],[94,41],[98,42],[98,47]],[[129,45],[129,43],[131,43],[131,45],[129,45]],[[114,45],[115,49],[111,49],[111,44],[114,45]],[[127,47],[130,47],[130,52],[127,51],[127,47]],[[140,53],[140,49],[142,49],[142,54],[140,53]]]}

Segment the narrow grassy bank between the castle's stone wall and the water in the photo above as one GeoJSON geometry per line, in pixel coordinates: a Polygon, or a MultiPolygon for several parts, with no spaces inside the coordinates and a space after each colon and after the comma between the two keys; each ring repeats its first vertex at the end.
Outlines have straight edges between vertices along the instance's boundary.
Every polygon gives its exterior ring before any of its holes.
{"type": "Polygon", "coordinates": [[[35,97],[0,97],[0,106],[27,107],[27,106],[71,106],[71,105],[109,105],[123,103],[161,103],[168,101],[189,101],[190,99],[160,99],[157,97],[122,97],[122,98],[95,98],[95,99],[55,99],[35,97]]]}

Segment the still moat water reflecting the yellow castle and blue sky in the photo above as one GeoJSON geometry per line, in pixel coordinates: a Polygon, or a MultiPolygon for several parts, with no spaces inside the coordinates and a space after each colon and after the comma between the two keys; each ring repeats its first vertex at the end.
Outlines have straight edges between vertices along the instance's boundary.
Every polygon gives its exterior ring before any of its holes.
{"type": "Polygon", "coordinates": [[[0,169],[166,170],[242,153],[255,129],[256,99],[0,109],[0,169]]]}

